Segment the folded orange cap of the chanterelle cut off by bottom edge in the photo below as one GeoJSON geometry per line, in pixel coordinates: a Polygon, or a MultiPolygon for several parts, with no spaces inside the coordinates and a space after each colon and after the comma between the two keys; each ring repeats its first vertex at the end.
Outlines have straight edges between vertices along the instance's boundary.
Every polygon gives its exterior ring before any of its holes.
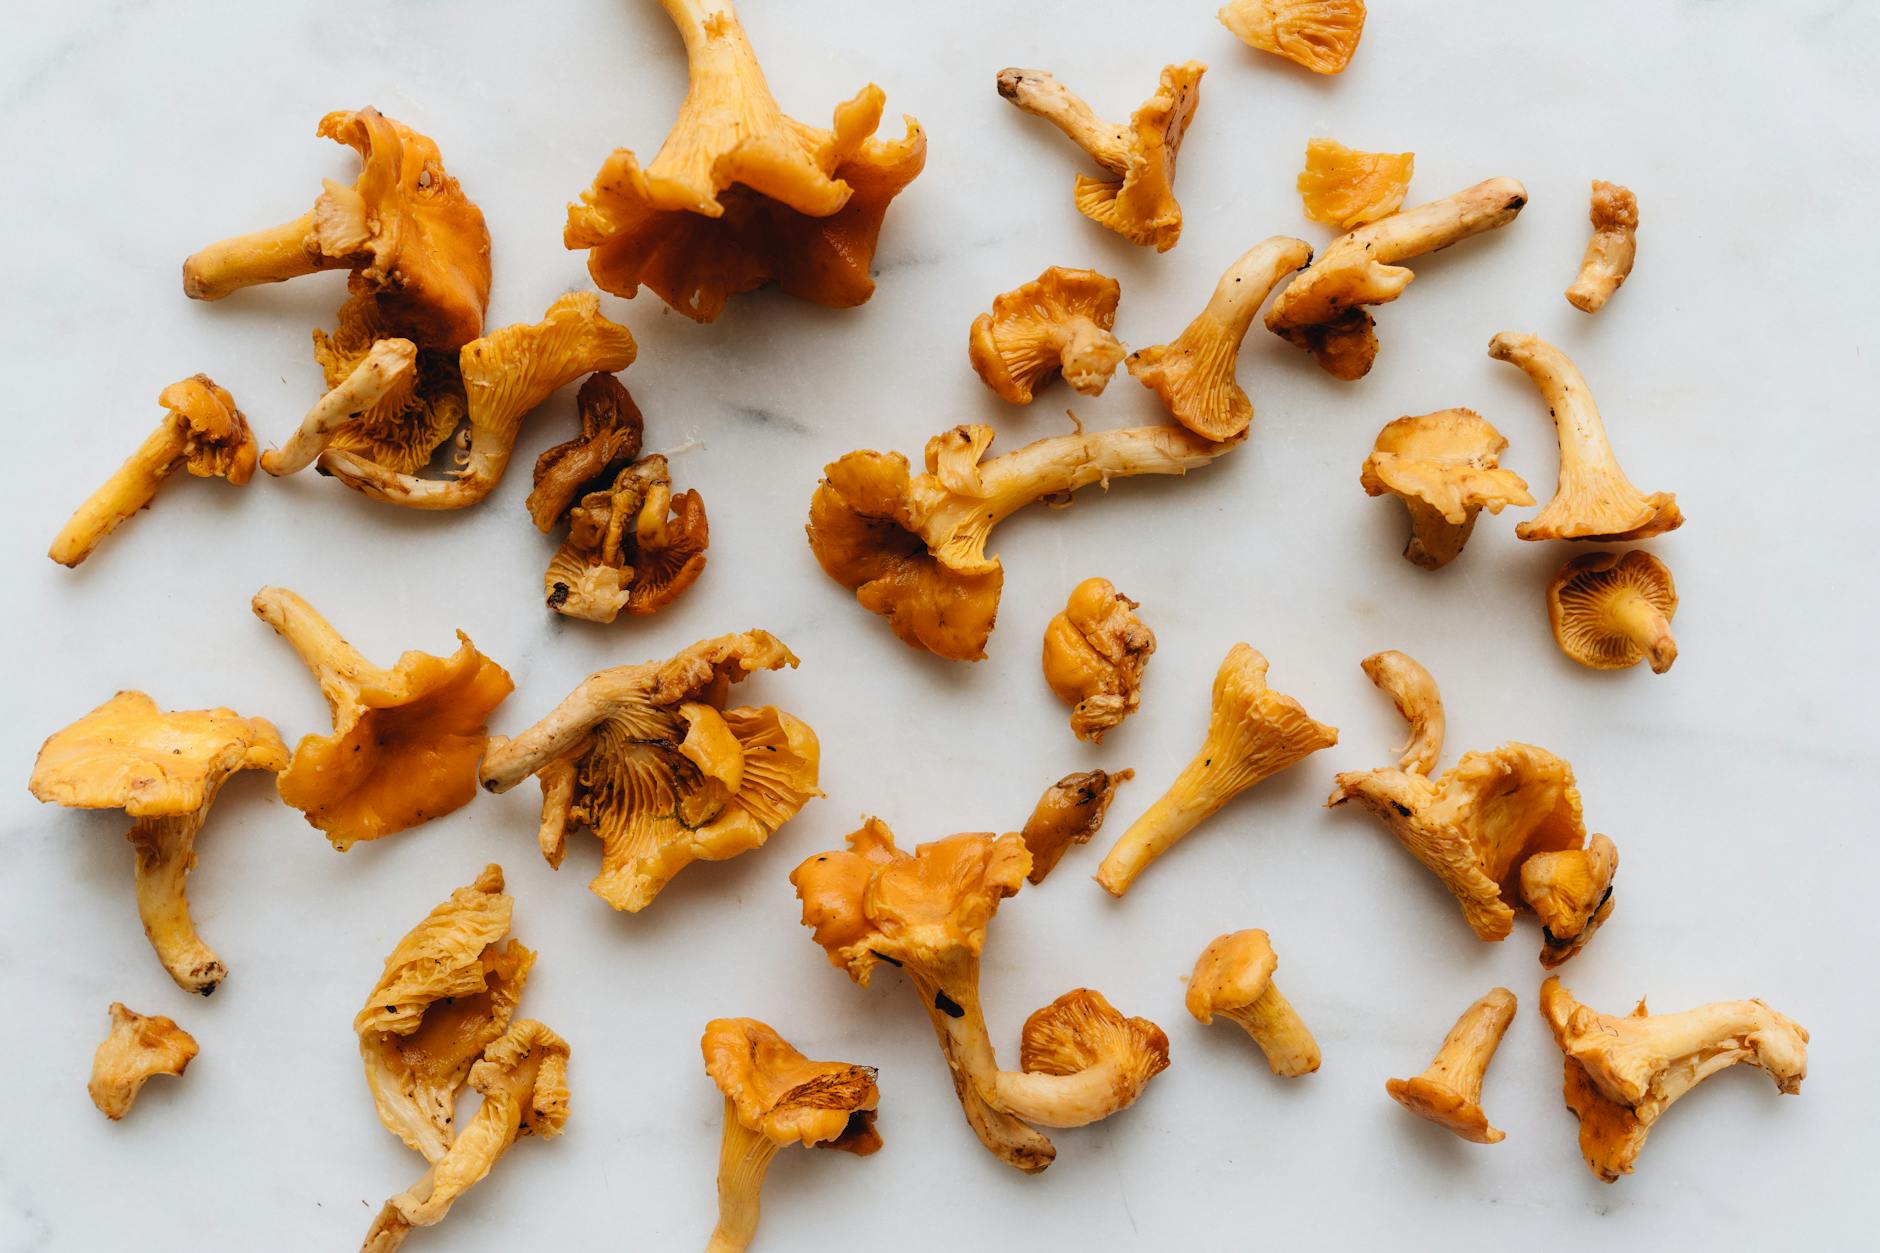
{"type": "Polygon", "coordinates": [[[874,1131],[874,1067],[810,1061],[756,1018],[714,1018],[699,1040],[705,1072],[737,1121],[773,1144],[833,1148],[867,1157],[882,1148],[874,1131]]]}

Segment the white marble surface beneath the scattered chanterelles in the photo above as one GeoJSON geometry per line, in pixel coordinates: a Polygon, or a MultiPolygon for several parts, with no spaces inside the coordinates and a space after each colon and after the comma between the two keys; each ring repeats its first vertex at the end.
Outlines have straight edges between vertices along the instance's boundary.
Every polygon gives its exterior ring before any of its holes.
{"type": "MultiPolygon", "coordinates": [[[[1872,6],[1491,0],[1374,4],[1352,70],[1322,81],[1235,43],[1213,2],[748,0],[784,105],[810,120],[867,81],[931,132],[927,173],[895,205],[880,292],[829,312],[775,293],[714,325],[652,295],[607,299],[641,342],[626,373],[649,444],[711,508],[711,568],[671,611],[588,626],[540,604],[549,544],[523,514],[526,467],[564,438],[572,395],[523,436],[478,510],[415,515],[312,474],[243,491],[177,482],[79,572],[43,557],[66,512],[156,418],[156,391],[207,371],[278,440],[316,393],[306,335],[342,278],[182,297],[179,262],[284,220],[350,177],[320,115],[376,103],[434,135],[494,235],[491,324],[532,320],[585,286],[562,205],[615,145],[658,145],[682,90],[650,2],[15,6],[0,40],[0,354],[9,380],[6,683],[13,786],[0,801],[0,1249],[346,1249],[415,1155],[372,1116],[350,1018],[391,943],[500,860],[517,933],[541,950],[525,1010],[573,1042],[564,1138],[517,1148],[410,1249],[682,1249],[711,1227],[718,1095],[697,1033],[714,1014],[776,1023],[812,1055],[882,1071],[885,1151],[786,1153],[760,1245],[854,1247],[1856,1247],[1876,1168],[1872,1040],[1871,634],[1880,602],[1869,497],[1880,182],[1871,156],[1880,40],[1872,6]],[[1152,21],[1147,13],[1158,13],[1152,21]],[[1057,70],[1120,115],[1166,60],[1211,71],[1183,151],[1181,246],[1136,250],[1075,214],[1077,152],[993,92],[1006,64],[1057,70]],[[1512,228],[1418,263],[1380,312],[1359,384],[1320,374],[1256,329],[1241,374],[1252,442],[1186,482],[1090,491],[1068,514],[1006,523],[991,658],[951,666],[897,643],[827,581],[801,521],[820,467],[855,446],[917,452],[993,421],[1002,446],[1062,429],[1070,393],[1002,406],[964,359],[966,324],[1043,265],[1122,280],[1119,333],[1167,339],[1256,239],[1325,235],[1292,190],[1312,134],[1416,149],[1412,199],[1510,173],[1512,228]],[[1587,181],[1634,186],[1641,262],[1596,320],[1560,297],[1585,243],[1587,181]],[[1483,346],[1557,339],[1585,369],[1617,448],[1690,523],[1653,544],[1683,593],[1683,657],[1664,677],[1594,674],[1547,634],[1557,547],[1483,519],[1442,574],[1399,557],[1401,512],[1357,467],[1378,425],[1468,404],[1545,493],[1553,438],[1534,391],[1483,346]],[[1038,638],[1070,585],[1105,574],[1160,636],[1147,702],[1102,751],[1072,741],[1038,675],[1038,638]],[[515,674],[513,732],[587,672],[761,625],[803,668],[746,692],[808,719],[829,796],[771,847],[686,871],[641,916],[585,890],[594,841],[553,873],[519,788],[348,856],[246,777],[216,807],[192,879],[231,965],[211,1001],[177,991],[130,899],[111,815],[36,805],[39,739],[120,687],[171,707],[231,704],[291,736],[323,726],[318,690],[248,613],[261,583],[321,606],[367,653],[442,651],[451,628],[515,674]],[[1107,899],[1073,852],[993,926],[985,993],[1015,1055],[1023,1016],[1094,984],[1162,1022],[1173,1069],[1124,1116],[1058,1133],[1040,1178],[968,1134],[902,980],[857,990],[797,926],[784,880],[859,813],[904,841],[1013,828],[1040,788],[1089,764],[1134,766],[1111,833],[1196,747],[1220,655],[1248,640],[1273,683],[1342,728],[1339,747],[1243,798],[1107,899]],[[1327,813],[1335,769],[1386,758],[1399,726],[1357,660],[1402,647],[1438,675],[1455,753],[1530,739],[1568,756],[1589,822],[1624,856],[1611,924],[1566,975],[1587,1001],[1671,1010],[1760,995],[1814,1033],[1799,1099],[1741,1069],[1654,1131],[1639,1174],[1594,1182],[1560,1106],[1560,1061],[1532,1012],[1536,929],[1476,943],[1438,884],[1367,817],[1327,813]],[[1218,931],[1263,926],[1325,1050],[1320,1074],[1269,1076],[1231,1029],[1183,1012],[1181,978],[1218,931]],[[1382,1091],[1419,1071],[1495,982],[1523,1008],[1487,1082],[1508,1131],[1474,1148],[1382,1091]],[[105,1005],[177,1016],[203,1052],[122,1125],[85,1099],[105,1005]]],[[[1126,376],[1079,401],[1092,425],[1154,420],[1126,376]]],[[[1871,1232],[1867,1232],[1871,1236],[1871,1232]]]]}

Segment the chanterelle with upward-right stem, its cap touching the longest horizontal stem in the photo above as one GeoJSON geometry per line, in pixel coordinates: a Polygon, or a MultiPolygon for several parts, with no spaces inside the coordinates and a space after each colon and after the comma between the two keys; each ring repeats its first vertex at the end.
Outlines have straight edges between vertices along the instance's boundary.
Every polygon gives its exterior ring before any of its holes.
{"type": "Polygon", "coordinates": [[[1130,374],[1201,438],[1239,438],[1254,420],[1254,403],[1235,378],[1241,341],[1278,280],[1310,260],[1312,246],[1303,239],[1275,235],[1254,245],[1228,267],[1181,335],[1130,354],[1130,374]]]}

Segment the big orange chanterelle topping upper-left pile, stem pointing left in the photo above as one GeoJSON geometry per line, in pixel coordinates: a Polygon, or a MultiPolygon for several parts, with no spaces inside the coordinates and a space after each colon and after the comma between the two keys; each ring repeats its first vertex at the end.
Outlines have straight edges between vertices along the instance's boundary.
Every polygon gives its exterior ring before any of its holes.
{"type": "Polygon", "coordinates": [[[459,348],[481,335],[489,230],[444,173],[438,145],[378,109],[329,113],[316,134],[359,152],[359,179],[327,179],[293,222],[203,248],[182,263],[184,293],[214,301],[258,282],[350,269],[352,292],[376,301],[421,348],[459,348]]]}

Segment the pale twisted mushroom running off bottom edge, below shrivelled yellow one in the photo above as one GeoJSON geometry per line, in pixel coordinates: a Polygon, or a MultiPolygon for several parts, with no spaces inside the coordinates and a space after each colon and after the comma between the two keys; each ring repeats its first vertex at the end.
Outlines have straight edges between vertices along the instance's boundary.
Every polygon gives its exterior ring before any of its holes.
{"type": "Polygon", "coordinates": [[[568,1123],[568,1040],[523,1018],[470,1067],[483,1095],[449,1150],[378,1212],[361,1253],[393,1253],[414,1227],[434,1227],[502,1161],[517,1136],[549,1140],[568,1123]]]}

